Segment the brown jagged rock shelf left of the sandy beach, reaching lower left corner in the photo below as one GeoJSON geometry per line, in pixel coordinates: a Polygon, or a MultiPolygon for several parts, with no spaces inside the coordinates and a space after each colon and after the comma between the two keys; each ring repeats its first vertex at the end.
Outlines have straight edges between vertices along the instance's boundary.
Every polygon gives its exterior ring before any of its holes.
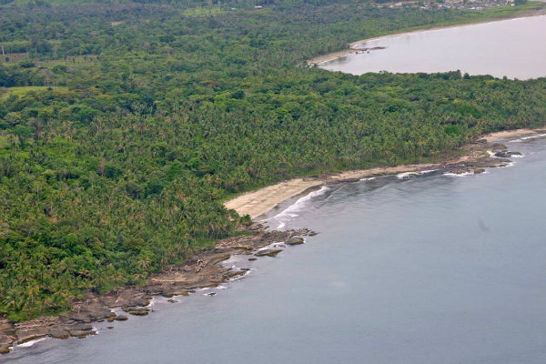
{"type": "Polygon", "coordinates": [[[120,288],[106,295],[89,292],[86,300],[75,302],[70,312],[58,317],[42,317],[21,323],[12,323],[0,318],[0,353],[9,353],[14,344],[42,339],[83,339],[95,335],[93,322],[125,321],[127,315],[146,316],[151,312],[147,306],[155,296],[173,298],[188,296],[198,288],[212,288],[230,279],[245,275],[248,268],[227,268],[221,263],[234,255],[275,257],[281,248],[304,242],[304,237],[314,233],[308,229],[270,231],[254,224],[240,231],[241,236],[219,240],[213,248],[200,251],[188,258],[185,264],[167,267],[152,275],[143,287],[120,288]],[[275,248],[266,248],[275,244],[275,248]],[[126,313],[116,314],[121,308],[126,313]]]}

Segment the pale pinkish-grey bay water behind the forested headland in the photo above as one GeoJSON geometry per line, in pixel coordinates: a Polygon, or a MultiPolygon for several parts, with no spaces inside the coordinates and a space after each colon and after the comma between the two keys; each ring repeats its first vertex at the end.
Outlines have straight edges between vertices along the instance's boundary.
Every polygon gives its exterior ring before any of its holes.
{"type": "Polygon", "coordinates": [[[385,47],[320,67],[353,75],[368,72],[446,72],[529,79],[546,76],[546,15],[462,25],[363,42],[385,47]]]}

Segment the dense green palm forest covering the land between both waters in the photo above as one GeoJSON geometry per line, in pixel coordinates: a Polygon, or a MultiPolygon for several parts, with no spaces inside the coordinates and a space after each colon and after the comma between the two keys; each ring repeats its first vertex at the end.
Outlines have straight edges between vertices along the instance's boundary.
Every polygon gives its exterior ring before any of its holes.
{"type": "Polygon", "coordinates": [[[438,160],[539,126],[546,79],[306,66],[349,41],[515,14],[366,2],[0,2],[0,313],[139,284],[279,180],[438,160]]]}

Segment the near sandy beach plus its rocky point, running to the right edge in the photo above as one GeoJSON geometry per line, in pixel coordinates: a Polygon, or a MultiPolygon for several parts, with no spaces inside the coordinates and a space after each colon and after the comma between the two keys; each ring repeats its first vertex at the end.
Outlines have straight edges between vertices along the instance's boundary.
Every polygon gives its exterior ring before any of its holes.
{"type": "MultiPolygon", "coordinates": [[[[505,139],[510,139],[519,136],[538,135],[545,128],[537,129],[517,129],[490,133],[480,137],[480,140],[486,143],[470,143],[462,147],[468,153],[461,157],[452,157],[440,163],[422,163],[401,165],[393,167],[373,167],[369,169],[355,169],[337,174],[332,174],[324,177],[305,177],[294,178],[280,182],[276,185],[260,188],[256,191],[247,192],[238,197],[229,199],[224,203],[227,208],[235,209],[239,215],[249,215],[251,218],[257,218],[266,214],[269,210],[277,207],[284,200],[295,197],[309,188],[325,186],[333,183],[351,182],[366,177],[377,177],[395,175],[407,172],[419,172],[426,169],[453,169],[461,170],[462,168],[471,168],[465,164],[472,164],[471,161],[480,161],[476,167],[488,167],[487,161],[489,154],[487,149],[490,149],[491,144],[498,143],[505,139]]],[[[491,162],[498,162],[494,159],[491,162]]]]}

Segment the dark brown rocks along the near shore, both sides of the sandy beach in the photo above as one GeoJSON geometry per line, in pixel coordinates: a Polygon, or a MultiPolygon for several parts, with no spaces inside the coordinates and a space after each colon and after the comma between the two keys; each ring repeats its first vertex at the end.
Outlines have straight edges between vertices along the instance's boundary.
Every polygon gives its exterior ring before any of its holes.
{"type": "MultiPolygon", "coordinates": [[[[440,164],[423,164],[407,167],[404,171],[420,173],[424,170],[442,170],[454,174],[480,174],[486,167],[505,167],[511,163],[508,157],[519,153],[509,151],[499,143],[488,143],[480,139],[462,148],[466,155],[451,158],[440,164]]],[[[376,177],[392,174],[388,168],[363,171],[349,171],[341,175],[320,177],[322,184],[332,185],[358,181],[361,177],[376,177]]],[[[92,322],[113,322],[128,319],[127,315],[146,316],[152,298],[162,296],[173,298],[188,296],[198,288],[212,288],[248,273],[248,268],[227,268],[221,263],[234,255],[276,257],[281,248],[304,243],[304,237],[315,233],[308,229],[272,231],[260,224],[254,224],[240,231],[241,236],[219,240],[217,245],[200,251],[188,258],[185,264],[167,267],[163,272],[152,275],[143,287],[119,288],[106,295],[89,292],[86,300],[75,302],[70,312],[58,317],[43,317],[22,323],[12,323],[0,318],[0,353],[9,353],[14,344],[20,345],[34,339],[70,337],[85,338],[95,335],[92,322]],[[275,245],[273,248],[266,248],[275,245]],[[121,308],[126,313],[116,314],[113,309],[121,308]]]]}

